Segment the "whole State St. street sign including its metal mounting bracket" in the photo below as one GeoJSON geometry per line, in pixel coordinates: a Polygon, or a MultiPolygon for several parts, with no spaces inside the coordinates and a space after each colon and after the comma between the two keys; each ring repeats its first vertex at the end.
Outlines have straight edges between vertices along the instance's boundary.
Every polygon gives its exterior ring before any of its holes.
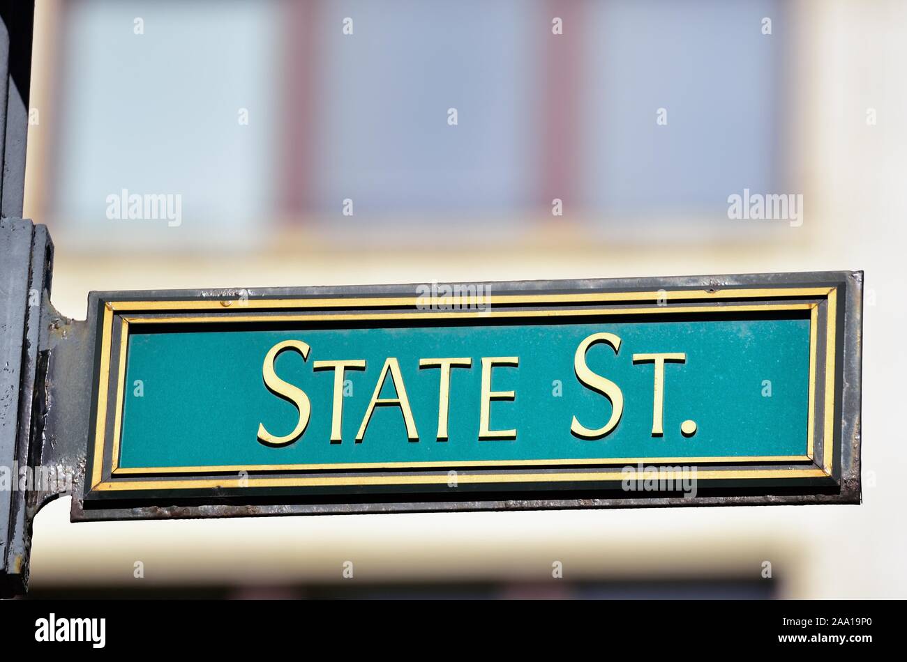
{"type": "Polygon", "coordinates": [[[17,223],[5,460],[71,468],[75,521],[860,502],[861,272],[107,292],[72,321],[17,223]]]}

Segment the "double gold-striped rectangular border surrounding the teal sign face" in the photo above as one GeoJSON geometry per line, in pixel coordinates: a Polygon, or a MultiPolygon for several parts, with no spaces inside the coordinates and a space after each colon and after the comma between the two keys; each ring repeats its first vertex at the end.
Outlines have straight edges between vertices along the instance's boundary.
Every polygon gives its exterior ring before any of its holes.
{"type": "MultiPolygon", "coordinates": [[[[649,279],[655,280],[655,279],[649,279]]],[[[151,467],[144,470],[145,479],[143,480],[121,480],[122,475],[141,475],[141,470],[122,471],[116,463],[118,456],[118,439],[121,431],[122,417],[122,396],[125,378],[125,357],[128,347],[129,329],[133,324],[180,324],[180,323],[208,323],[212,321],[219,322],[262,322],[262,321],[363,321],[363,320],[382,320],[382,319],[408,319],[408,320],[438,320],[438,319],[468,319],[478,317],[507,316],[507,317],[551,317],[566,315],[592,316],[595,314],[658,314],[658,313],[714,313],[714,312],[778,312],[778,311],[809,311],[810,315],[810,417],[808,432],[808,450],[807,456],[777,456],[777,457],[731,457],[731,458],[603,458],[598,460],[540,460],[540,461],[495,461],[491,462],[477,461],[474,468],[491,467],[493,465],[506,465],[508,467],[525,467],[527,465],[591,465],[596,464],[599,468],[604,463],[609,465],[636,465],[640,462],[645,465],[665,465],[665,464],[707,464],[727,462],[735,466],[719,469],[707,469],[697,471],[697,479],[704,481],[727,481],[727,480],[789,480],[789,479],[823,479],[827,483],[834,481],[834,416],[836,410],[835,402],[835,361],[839,353],[839,343],[835,338],[840,336],[836,334],[836,327],[839,320],[837,314],[836,301],[840,285],[838,283],[814,286],[773,286],[773,287],[729,287],[727,289],[717,288],[700,288],[700,289],[671,289],[659,291],[639,291],[625,290],[612,292],[572,292],[572,293],[507,293],[503,295],[492,295],[491,304],[495,306],[507,305],[535,305],[553,304],[553,305],[595,305],[595,304],[614,304],[618,302],[624,307],[620,308],[560,308],[560,309],[531,309],[531,310],[501,310],[486,312],[458,311],[458,312],[414,312],[417,305],[417,297],[410,295],[405,297],[395,297],[386,295],[375,296],[341,296],[341,297],[324,297],[324,296],[305,296],[305,297],[275,297],[262,296],[239,300],[236,296],[230,298],[203,298],[195,297],[173,297],[173,298],[141,298],[132,297],[128,294],[112,297],[99,297],[98,303],[101,307],[102,314],[99,314],[99,365],[96,371],[96,389],[94,391],[95,412],[93,414],[93,453],[91,458],[92,479],[86,481],[86,498],[95,496],[107,496],[111,493],[122,493],[132,491],[161,491],[161,490],[224,490],[229,488],[239,488],[249,490],[249,488],[282,488],[282,487],[350,487],[350,486],[430,486],[445,485],[449,477],[446,474],[421,474],[405,475],[402,472],[395,472],[391,475],[309,475],[309,476],[262,476],[228,478],[225,476],[215,478],[201,478],[194,476],[192,478],[180,478],[177,480],[161,480],[157,475],[161,467],[151,467]],[[707,302],[711,305],[706,306],[689,306],[671,304],[668,306],[652,307],[652,303],[658,301],[660,296],[668,294],[671,302],[707,302]],[[126,298],[123,298],[125,296],[126,298]],[[814,298],[819,301],[796,302],[791,301],[795,298],[814,298]],[[750,300],[767,300],[769,302],[754,303],[748,302],[738,304],[737,301],[750,300]],[[786,299],[786,301],[785,301],[786,299]],[[771,301],[784,301],[782,303],[771,303],[771,301]],[[627,304],[633,304],[633,307],[626,307],[627,304]],[[825,304],[824,310],[824,328],[821,335],[824,337],[824,362],[822,363],[824,373],[824,384],[821,385],[824,398],[822,398],[822,428],[823,438],[821,444],[822,462],[813,464],[814,459],[814,426],[816,417],[815,402],[817,385],[816,382],[816,364],[818,345],[820,340],[819,334],[819,313],[822,305],[825,304]],[[400,306],[404,310],[398,312],[375,312],[375,309],[386,309],[388,307],[400,306]],[[249,315],[244,314],[247,310],[257,311],[249,315]],[[366,309],[369,312],[345,312],[349,309],[366,309]],[[303,311],[303,312],[299,312],[303,311]],[[327,314],[313,314],[313,312],[332,311],[327,314]],[[197,313],[202,312],[199,315],[197,313]],[[207,314],[205,314],[207,313],[207,314]],[[118,318],[119,324],[115,323],[118,318]],[[112,377],[112,368],[115,366],[115,379],[112,377]],[[103,394],[110,394],[111,389],[114,392],[115,408],[113,417],[112,440],[108,434],[107,418],[109,417],[108,400],[103,394]],[[831,424],[830,424],[831,423],[831,424]],[[108,443],[110,441],[110,443],[108,443]],[[109,457],[107,471],[105,472],[105,456],[109,457]],[[784,462],[788,466],[781,467],[770,465],[771,463],[784,462]],[[808,465],[796,465],[796,463],[806,462],[808,465]],[[736,465],[741,464],[761,464],[757,469],[740,469],[736,465]],[[766,464],[769,464],[766,466],[766,464]],[[105,475],[106,474],[106,475],[105,475]],[[148,478],[147,475],[151,475],[148,478]],[[241,486],[245,485],[245,486],[241,486]]],[[[421,464],[421,463],[377,463],[377,468],[393,469],[417,469],[417,468],[434,468],[438,465],[444,468],[469,467],[467,463],[459,462],[440,462],[421,464]],[[401,466],[402,465],[402,466],[401,466]]],[[[222,467],[179,467],[174,471],[174,467],[163,467],[168,473],[227,473],[234,474],[240,470],[249,470],[250,472],[274,472],[274,471],[297,471],[297,470],[344,470],[344,469],[366,469],[375,468],[366,464],[356,465],[251,465],[242,466],[222,466],[222,467]]],[[[543,474],[526,474],[526,473],[508,473],[508,474],[490,474],[482,473],[458,473],[457,480],[465,485],[506,485],[506,484],[527,484],[527,483],[568,483],[583,484],[585,482],[607,483],[615,480],[622,480],[626,477],[625,473],[618,475],[602,475],[600,472],[590,473],[589,471],[546,471],[543,474]]],[[[122,498],[122,494],[120,495],[122,498]]]]}

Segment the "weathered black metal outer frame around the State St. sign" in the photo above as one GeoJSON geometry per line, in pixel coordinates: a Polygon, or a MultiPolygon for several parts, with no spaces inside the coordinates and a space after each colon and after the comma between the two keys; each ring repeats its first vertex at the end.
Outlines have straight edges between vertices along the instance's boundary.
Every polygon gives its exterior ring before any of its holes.
{"type": "MultiPolygon", "coordinates": [[[[860,395],[860,354],[862,323],[862,273],[787,273],[787,274],[751,274],[733,276],[698,276],[672,278],[639,278],[582,281],[548,281],[518,283],[483,283],[490,285],[496,294],[506,293],[590,293],[590,292],[627,292],[634,290],[664,289],[672,290],[700,289],[718,291],[721,289],[752,288],[760,286],[814,287],[834,286],[838,288],[841,301],[836,318],[836,337],[839,356],[835,361],[838,393],[836,402],[840,408],[835,413],[835,459],[833,475],[829,478],[799,478],[771,481],[728,481],[722,484],[711,484],[700,487],[696,499],[684,499],[679,494],[659,494],[628,498],[613,477],[596,482],[594,489],[586,485],[550,485],[544,480],[546,471],[556,469],[541,468],[532,471],[539,475],[539,481],[529,485],[495,485],[485,486],[460,485],[456,489],[401,490],[400,488],[361,488],[350,490],[320,490],[300,494],[297,489],[268,488],[253,489],[210,489],[198,492],[161,492],[130,493],[97,493],[87,485],[79,485],[73,498],[73,520],[98,519],[135,519],[162,517],[211,517],[257,514],[296,514],[296,513],[372,513],[372,512],[413,512],[438,510],[502,510],[502,509],[540,509],[540,508],[593,508],[625,507],[651,505],[727,505],[727,504],[815,504],[815,503],[859,503],[859,416],[860,395]],[[846,385],[846,389],[845,389],[846,385]],[[854,385],[857,385],[854,388],[854,385]],[[842,442],[843,440],[843,442],[842,442]]],[[[92,293],[89,301],[90,317],[86,324],[75,324],[67,327],[68,341],[78,343],[78,356],[61,350],[51,358],[50,375],[55,384],[61,385],[66,380],[75,379],[78,384],[92,383],[92,389],[68,389],[73,393],[71,398],[79,402],[67,409],[54,408],[50,412],[49,429],[54,431],[54,447],[69,448],[70,457],[83,454],[88,440],[93,439],[93,393],[98,388],[98,361],[100,356],[100,323],[103,311],[109,302],[151,300],[156,302],[200,300],[213,298],[224,301],[235,300],[239,293],[248,296],[249,300],[267,302],[270,298],[361,298],[412,296],[417,285],[376,285],[364,287],[309,287],[309,288],[275,288],[260,291],[222,290],[222,291],[163,291],[132,293],[92,293]],[[82,331],[78,331],[79,328],[82,331]],[[93,348],[93,351],[89,351],[93,348]],[[93,363],[87,355],[91,354],[93,363]],[[63,361],[58,364],[57,360],[63,361]],[[73,376],[73,367],[79,374],[73,376]],[[89,416],[89,412],[91,415],[89,416]],[[59,423],[57,416],[65,416],[59,423]],[[75,439],[59,437],[58,429],[66,429],[76,436],[75,439]]],[[[770,297],[766,302],[775,300],[770,297]]],[[[734,303],[727,301],[727,304],[734,303]]],[[[621,304],[622,305],[622,304],[621,304]]],[[[716,314],[720,314],[724,304],[717,303],[716,314]]],[[[596,308],[600,308],[596,304],[596,308]]],[[[212,319],[229,321],[229,311],[242,314],[241,309],[225,308],[206,313],[212,319]]],[[[390,309],[383,308],[383,312],[390,309]]],[[[336,312],[359,312],[355,307],[339,308],[336,312]]],[[[172,312],[159,313],[171,315],[172,312]]],[[[198,313],[195,313],[198,314],[198,313]]],[[[153,318],[154,315],[151,315],[153,318]]],[[[426,318],[428,316],[426,315],[426,318]]],[[[117,325],[114,324],[114,327],[117,325]]],[[[821,339],[820,339],[821,340],[821,339]]],[[[116,338],[112,345],[118,344],[116,338]]],[[[115,359],[115,357],[114,357],[115,359]]],[[[111,385],[111,389],[114,385],[111,385]]],[[[112,416],[112,415],[111,415],[112,416]]],[[[112,418],[110,419],[112,420],[112,418]]],[[[110,431],[112,425],[107,425],[110,431]]],[[[88,449],[87,459],[92,460],[92,449],[88,449]]],[[[80,461],[83,456],[79,456],[80,461]]],[[[109,471],[109,457],[106,458],[109,471]]],[[[784,465],[771,465],[772,468],[783,468],[784,465]]],[[[720,466],[712,468],[722,468],[720,466]]],[[[725,467],[728,468],[728,467],[725,467]]],[[[765,467],[764,467],[765,468],[765,467]]],[[[793,467],[792,467],[793,468],[793,467]]],[[[467,470],[463,473],[476,473],[467,470]]],[[[369,472],[375,475],[375,472],[369,472]]],[[[390,472],[388,472],[390,473],[390,472]]],[[[430,473],[426,470],[426,473],[430,473]]],[[[438,470],[434,470],[438,473],[438,470]]],[[[381,475],[382,472],[377,472],[381,475]]]]}

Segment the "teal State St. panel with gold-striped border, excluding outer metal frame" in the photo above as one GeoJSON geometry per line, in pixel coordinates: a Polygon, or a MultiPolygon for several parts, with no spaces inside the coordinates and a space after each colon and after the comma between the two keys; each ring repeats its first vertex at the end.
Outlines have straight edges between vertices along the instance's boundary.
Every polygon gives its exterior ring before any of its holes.
{"type": "Polygon", "coordinates": [[[557,489],[653,461],[832,474],[815,420],[834,374],[827,285],[527,288],[423,310],[404,292],[99,297],[86,497],[557,489]],[[780,462],[802,466],[766,468],[780,462]]]}

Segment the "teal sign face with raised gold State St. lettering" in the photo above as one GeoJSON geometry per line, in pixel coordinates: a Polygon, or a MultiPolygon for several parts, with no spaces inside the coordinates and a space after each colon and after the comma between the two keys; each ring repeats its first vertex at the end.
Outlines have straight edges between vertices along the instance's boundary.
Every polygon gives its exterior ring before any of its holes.
{"type": "Polygon", "coordinates": [[[131,471],[808,451],[808,318],[138,331],[125,375],[131,471]]]}

